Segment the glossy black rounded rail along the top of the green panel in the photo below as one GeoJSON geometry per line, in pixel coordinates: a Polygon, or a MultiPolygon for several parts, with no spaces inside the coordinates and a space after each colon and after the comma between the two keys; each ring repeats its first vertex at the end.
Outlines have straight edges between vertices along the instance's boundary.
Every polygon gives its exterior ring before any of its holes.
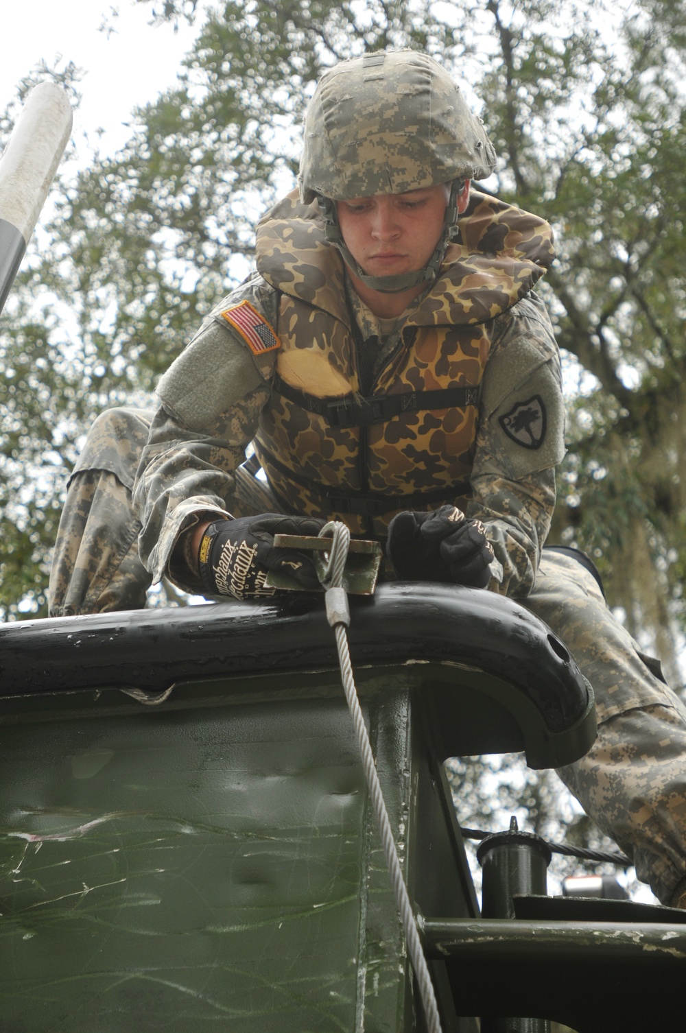
{"type": "MultiPolygon", "coordinates": [[[[529,737],[527,755],[538,757],[535,766],[545,765],[547,757],[555,766],[574,759],[563,759],[555,742],[589,718],[593,697],[560,639],[529,611],[479,589],[403,582],[380,585],[373,597],[351,597],[350,609],[353,666],[428,679],[436,677],[430,667],[443,670],[447,684],[439,695],[450,713],[443,722],[444,756],[457,755],[449,751],[460,734],[453,684],[466,677],[481,684],[494,676],[508,712],[530,714],[516,719],[522,743],[529,737]]],[[[0,625],[0,696],[118,686],[159,692],[183,680],[337,669],[321,594],[0,625]]],[[[488,727],[495,717],[489,705],[479,721],[488,727]]],[[[586,750],[592,742],[587,735],[586,750]]]]}

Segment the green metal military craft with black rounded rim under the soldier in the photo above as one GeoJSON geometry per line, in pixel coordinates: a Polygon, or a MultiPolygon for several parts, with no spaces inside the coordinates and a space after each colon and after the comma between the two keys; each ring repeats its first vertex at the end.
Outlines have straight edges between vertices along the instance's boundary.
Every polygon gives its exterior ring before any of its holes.
{"type": "MultiPolygon", "coordinates": [[[[650,1028],[631,992],[675,997],[681,913],[545,898],[542,841],[506,833],[480,915],[443,772],[585,752],[562,643],[422,584],[353,599],[348,634],[442,1029],[650,1028]]],[[[426,1028],[321,596],[6,624],[0,693],[0,1028],[426,1028]]]]}

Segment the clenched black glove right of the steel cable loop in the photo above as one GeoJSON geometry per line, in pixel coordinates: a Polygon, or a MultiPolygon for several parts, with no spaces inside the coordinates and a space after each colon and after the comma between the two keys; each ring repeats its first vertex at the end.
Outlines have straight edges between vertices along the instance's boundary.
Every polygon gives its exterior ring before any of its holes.
{"type": "Polygon", "coordinates": [[[400,577],[486,588],[493,547],[480,521],[456,506],[398,513],[388,526],[388,559],[400,577]]]}

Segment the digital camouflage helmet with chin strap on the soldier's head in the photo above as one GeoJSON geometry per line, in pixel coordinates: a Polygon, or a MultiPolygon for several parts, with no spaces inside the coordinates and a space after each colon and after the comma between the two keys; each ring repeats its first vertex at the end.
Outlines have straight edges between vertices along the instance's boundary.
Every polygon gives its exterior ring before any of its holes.
{"type": "Polygon", "coordinates": [[[319,199],[326,237],[368,286],[395,293],[435,279],[467,179],[487,179],[496,153],[460,87],[417,51],[366,54],[321,76],[305,117],[299,183],[319,199]],[[427,265],[400,276],[365,274],[348,251],[337,200],[406,193],[451,183],[443,232],[427,265]]]}

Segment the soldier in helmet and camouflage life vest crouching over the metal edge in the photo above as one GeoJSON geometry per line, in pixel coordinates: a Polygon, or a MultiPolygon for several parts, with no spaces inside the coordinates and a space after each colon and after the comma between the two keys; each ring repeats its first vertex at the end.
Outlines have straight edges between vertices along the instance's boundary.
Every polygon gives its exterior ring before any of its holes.
{"type": "Polygon", "coordinates": [[[322,76],[300,190],[260,221],[256,273],[162,377],[157,412],[96,420],[60,525],[52,613],[139,606],[162,576],[254,598],[284,564],[307,587],[311,566],[272,547],[277,531],[339,518],[387,536],[397,576],[507,594],[568,645],[600,728],[560,775],[678,904],[686,713],[592,572],[541,553],[564,455],[559,355],[532,291],[552,233],[471,189],[495,161],[426,55],[367,55],[322,76]]]}

